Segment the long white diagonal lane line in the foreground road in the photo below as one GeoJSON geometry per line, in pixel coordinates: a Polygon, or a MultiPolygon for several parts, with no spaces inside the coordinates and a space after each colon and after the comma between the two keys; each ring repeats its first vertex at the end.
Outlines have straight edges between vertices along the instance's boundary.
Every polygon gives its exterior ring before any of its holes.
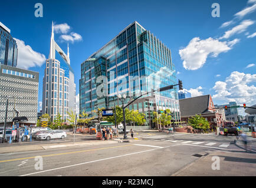
{"type": "MultiPolygon", "coordinates": [[[[167,147],[169,147],[169,146],[167,146],[167,147]]],[[[165,147],[163,147],[163,148],[165,148],[165,147]]],[[[34,172],[34,173],[24,174],[24,175],[21,175],[21,176],[29,176],[29,175],[32,175],[32,174],[50,172],[50,171],[52,171],[52,170],[60,170],[60,169],[65,169],[65,168],[68,168],[68,167],[78,166],[78,165],[82,165],[82,164],[88,164],[88,163],[99,162],[99,161],[102,161],[102,160],[115,159],[115,158],[117,158],[117,157],[124,157],[124,156],[134,155],[134,154],[138,154],[138,153],[151,152],[151,151],[157,150],[157,149],[162,149],[162,148],[150,149],[150,150],[145,150],[145,151],[135,152],[135,153],[128,153],[128,154],[125,154],[125,155],[114,156],[114,157],[108,157],[108,158],[105,158],[105,159],[93,160],[93,161],[90,161],[90,162],[79,163],[79,164],[73,164],[73,165],[70,165],[70,166],[63,166],[63,167],[58,167],[58,168],[50,169],[50,170],[43,170],[43,171],[40,171],[40,172],[34,172]]]]}

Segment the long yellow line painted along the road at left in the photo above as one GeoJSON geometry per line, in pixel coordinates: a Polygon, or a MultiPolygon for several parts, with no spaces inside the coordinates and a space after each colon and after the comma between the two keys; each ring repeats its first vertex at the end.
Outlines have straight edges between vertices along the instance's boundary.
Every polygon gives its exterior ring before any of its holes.
{"type": "MultiPolygon", "coordinates": [[[[81,153],[81,152],[91,152],[91,151],[104,150],[104,149],[111,149],[111,148],[116,148],[116,147],[126,147],[126,146],[133,146],[133,145],[101,147],[101,148],[97,148],[97,149],[80,150],[80,151],[76,151],[76,152],[55,153],[55,154],[50,154],[50,155],[42,155],[42,157],[51,157],[51,156],[58,156],[58,155],[67,155],[67,154],[81,153]]],[[[24,158],[18,158],[18,159],[0,160],[0,163],[12,162],[12,161],[15,161],[15,160],[34,159],[35,157],[36,157],[36,156],[33,156],[33,157],[24,157],[24,158]]]]}

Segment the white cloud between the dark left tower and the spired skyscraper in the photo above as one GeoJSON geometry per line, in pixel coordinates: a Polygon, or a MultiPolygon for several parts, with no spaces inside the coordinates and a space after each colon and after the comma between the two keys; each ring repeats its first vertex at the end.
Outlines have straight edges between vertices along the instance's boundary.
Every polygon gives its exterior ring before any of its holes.
{"type": "Polygon", "coordinates": [[[41,66],[45,61],[45,55],[35,52],[31,46],[25,45],[24,41],[14,38],[18,46],[18,62],[19,68],[31,68],[34,66],[41,66]]]}

